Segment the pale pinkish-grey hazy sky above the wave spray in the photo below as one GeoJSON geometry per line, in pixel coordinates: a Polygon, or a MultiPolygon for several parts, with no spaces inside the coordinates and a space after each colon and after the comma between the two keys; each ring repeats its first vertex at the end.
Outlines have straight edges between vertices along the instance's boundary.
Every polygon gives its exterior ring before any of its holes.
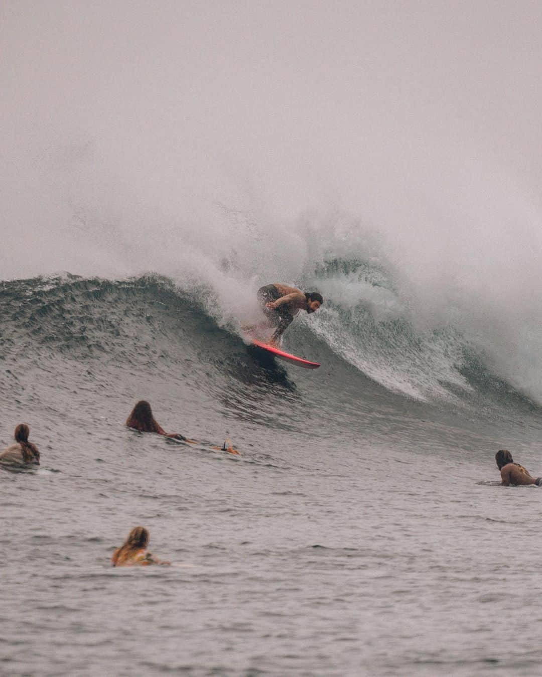
{"type": "Polygon", "coordinates": [[[541,19],[529,0],[4,2],[5,275],[167,269],[212,249],[217,201],[301,239],[300,215],[340,211],[429,276],[530,271],[541,19]]]}

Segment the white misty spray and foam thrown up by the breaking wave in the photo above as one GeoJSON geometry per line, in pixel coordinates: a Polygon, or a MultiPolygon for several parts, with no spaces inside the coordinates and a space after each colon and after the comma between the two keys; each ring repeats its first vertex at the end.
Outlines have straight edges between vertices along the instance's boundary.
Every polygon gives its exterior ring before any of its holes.
{"type": "MultiPolygon", "coordinates": [[[[371,231],[344,215],[309,214],[279,225],[256,211],[215,204],[204,223],[170,230],[156,218],[104,230],[89,212],[68,237],[65,255],[58,244],[54,252],[46,245],[39,263],[22,255],[18,268],[30,261],[44,272],[47,260],[114,279],[154,271],[230,329],[257,315],[262,284],[316,288],[326,303],[317,320],[303,322],[307,331],[386,389],[421,400],[469,391],[474,360],[542,402],[542,290],[532,259],[538,236],[525,234],[523,252],[503,235],[484,261],[471,252],[483,242],[473,240],[468,252],[449,242],[443,261],[440,250],[417,248],[415,232],[394,241],[391,230],[371,231]]],[[[61,241],[51,233],[51,242],[61,241]]]]}

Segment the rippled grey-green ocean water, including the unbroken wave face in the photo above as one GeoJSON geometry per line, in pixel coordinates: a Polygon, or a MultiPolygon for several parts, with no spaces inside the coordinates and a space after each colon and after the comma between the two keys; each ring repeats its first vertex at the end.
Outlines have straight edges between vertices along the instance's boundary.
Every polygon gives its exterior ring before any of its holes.
{"type": "Polygon", "coordinates": [[[542,474],[542,411],[459,332],[329,302],[284,339],[306,371],[168,278],[0,309],[0,443],[42,459],[0,468],[0,674],[540,674],[542,493],[494,456],[542,474]],[[127,429],[139,399],[198,443],[127,429]],[[136,525],[171,567],[110,566],[136,525]]]}

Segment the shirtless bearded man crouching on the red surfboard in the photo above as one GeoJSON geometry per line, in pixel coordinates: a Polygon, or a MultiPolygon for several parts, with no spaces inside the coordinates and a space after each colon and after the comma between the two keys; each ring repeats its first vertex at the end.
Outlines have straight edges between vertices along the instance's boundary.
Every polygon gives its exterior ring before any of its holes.
{"type": "Polygon", "coordinates": [[[319,292],[302,292],[296,287],[286,284],[266,284],[258,289],[260,307],[269,321],[269,326],[275,327],[269,345],[277,347],[284,330],[294,321],[294,316],[300,310],[315,313],[323,303],[319,292]]]}

